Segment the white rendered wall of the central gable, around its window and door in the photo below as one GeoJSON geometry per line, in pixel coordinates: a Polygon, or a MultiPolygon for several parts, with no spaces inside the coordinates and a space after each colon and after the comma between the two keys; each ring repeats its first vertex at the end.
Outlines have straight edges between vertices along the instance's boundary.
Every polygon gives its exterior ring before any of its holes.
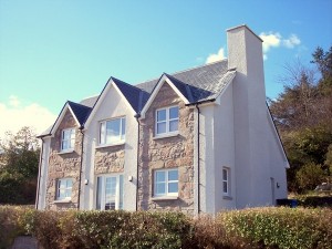
{"type": "Polygon", "coordinates": [[[89,179],[89,185],[83,185],[82,209],[95,209],[96,198],[96,176],[94,175],[94,154],[95,147],[98,146],[100,121],[125,116],[126,117],[126,136],[125,136],[125,165],[124,165],[124,209],[136,210],[136,179],[137,179],[137,122],[134,117],[135,112],[132,110],[125,98],[118,91],[111,85],[105,89],[106,94],[102,103],[94,113],[93,120],[85,131],[83,176],[89,179]],[[133,181],[128,181],[128,176],[133,176],[133,181]]]}

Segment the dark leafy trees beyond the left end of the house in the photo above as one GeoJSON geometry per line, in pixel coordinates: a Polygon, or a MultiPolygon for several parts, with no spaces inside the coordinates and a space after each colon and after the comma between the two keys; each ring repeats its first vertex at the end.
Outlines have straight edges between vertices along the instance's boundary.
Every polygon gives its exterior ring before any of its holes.
{"type": "Polygon", "coordinates": [[[35,134],[30,127],[8,132],[0,151],[0,204],[32,204],[40,154],[35,134]]]}

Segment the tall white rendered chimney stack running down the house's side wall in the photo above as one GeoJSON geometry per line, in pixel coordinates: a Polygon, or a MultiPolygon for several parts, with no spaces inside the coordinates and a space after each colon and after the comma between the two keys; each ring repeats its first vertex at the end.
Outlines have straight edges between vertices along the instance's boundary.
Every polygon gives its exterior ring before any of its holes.
{"type": "MultiPolygon", "coordinates": [[[[235,166],[237,208],[271,205],[270,138],[263,76],[262,44],[247,27],[228,30],[229,69],[234,80],[235,166]]],[[[273,165],[283,162],[273,158],[273,165]]],[[[271,167],[273,170],[271,170],[271,167]]],[[[284,175],[284,167],[277,175],[284,175]]]]}

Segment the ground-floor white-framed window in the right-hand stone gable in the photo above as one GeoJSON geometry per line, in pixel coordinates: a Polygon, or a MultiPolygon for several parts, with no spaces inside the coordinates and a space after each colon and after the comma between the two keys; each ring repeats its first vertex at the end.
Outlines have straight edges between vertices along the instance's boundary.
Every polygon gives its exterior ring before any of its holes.
{"type": "Polygon", "coordinates": [[[178,169],[155,170],[154,196],[178,195],[178,169]]]}

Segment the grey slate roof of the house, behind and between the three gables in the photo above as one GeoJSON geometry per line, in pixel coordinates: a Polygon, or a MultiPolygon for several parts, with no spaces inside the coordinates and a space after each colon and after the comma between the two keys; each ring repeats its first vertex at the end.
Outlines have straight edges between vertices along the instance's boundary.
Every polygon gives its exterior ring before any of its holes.
{"type": "MultiPolygon", "coordinates": [[[[196,104],[216,100],[225,86],[234,79],[235,74],[236,70],[228,70],[228,61],[222,60],[173,74],[164,73],[163,75],[172,81],[178,91],[188,100],[189,104],[196,104]]],[[[133,110],[139,113],[148,101],[159,79],[132,85],[118,79],[110,77],[107,84],[110,81],[116,84],[133,110]]],[[[84,125],[98,97],[100,95],[87,97],[80,103],[68,102],[81,125],[84,125]]],[[[49,135],[48,133],[50,133],[51,129],[52,128],[49,128],[43,134],[49,135]]]]}

